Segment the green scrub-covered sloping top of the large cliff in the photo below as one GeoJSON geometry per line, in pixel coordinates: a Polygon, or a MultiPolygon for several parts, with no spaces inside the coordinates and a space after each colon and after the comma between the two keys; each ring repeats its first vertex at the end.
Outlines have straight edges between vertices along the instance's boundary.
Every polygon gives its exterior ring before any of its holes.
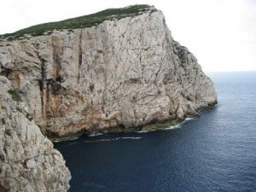
{"type": "Polygon", "coordinates": [[[26,34],[32,36],[40,36],[44,34],[50,34],[54,30],[63,29],[76,29],[83,27],[96,26],[102,23],[104,20],[119,20],[128,16],[141,15],[148,10],[156,10],[146,4],[132,5],[121,9],[106,9],[96,14],[84,15],[73,19],[61,20],[56,22],[49,22],[39,24],[36,26],[30,26],[25,29],[21,29],[17,32],[6,33],[0,35],[0,38],[7,38],[7,40],[14,40],[16,38],[23,37],[26,34]]]}

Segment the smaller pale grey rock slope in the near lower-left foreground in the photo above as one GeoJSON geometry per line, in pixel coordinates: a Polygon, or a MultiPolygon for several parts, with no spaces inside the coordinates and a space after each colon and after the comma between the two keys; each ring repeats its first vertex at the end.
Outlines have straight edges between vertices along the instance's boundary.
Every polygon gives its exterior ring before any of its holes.
{"type": "Polygon", "coordinates": [[[20,98],[3,76],[0,87],[0,191],[67,191],[71,175],[62,155],[13,101],[20,98]]]}

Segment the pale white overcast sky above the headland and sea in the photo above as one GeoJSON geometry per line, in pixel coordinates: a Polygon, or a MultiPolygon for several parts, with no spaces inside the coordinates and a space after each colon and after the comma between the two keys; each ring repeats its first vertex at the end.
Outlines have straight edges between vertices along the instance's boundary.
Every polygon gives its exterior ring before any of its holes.
{"type": "Polygon", "coordinates": [[[0,34],[136,3],[162,10],[204,71],[256,71],[256,0],[1,0],[0,34]]]}

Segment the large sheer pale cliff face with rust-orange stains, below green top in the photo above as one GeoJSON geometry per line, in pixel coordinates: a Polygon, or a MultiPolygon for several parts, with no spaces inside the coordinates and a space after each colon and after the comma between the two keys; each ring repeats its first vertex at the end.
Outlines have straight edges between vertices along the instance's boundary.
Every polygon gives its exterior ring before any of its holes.
{"type": "Polygon", "coordinates": [[[51,137],[155,129],[154,122],[175,124],[217,102],[211,79],[154,7],[96,26],[2,39],[0,66],[51,137]]]}

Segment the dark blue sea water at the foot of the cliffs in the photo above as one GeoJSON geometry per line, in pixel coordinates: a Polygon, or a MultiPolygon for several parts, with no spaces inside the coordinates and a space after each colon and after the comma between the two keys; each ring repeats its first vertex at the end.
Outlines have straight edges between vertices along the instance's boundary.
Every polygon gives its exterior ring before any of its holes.
{"type": "Polygon", "coordinates": [[[55,143],[70,191],[256,191],[256,73],[210,73],[218,106],[177,128],[55,143]]]}

